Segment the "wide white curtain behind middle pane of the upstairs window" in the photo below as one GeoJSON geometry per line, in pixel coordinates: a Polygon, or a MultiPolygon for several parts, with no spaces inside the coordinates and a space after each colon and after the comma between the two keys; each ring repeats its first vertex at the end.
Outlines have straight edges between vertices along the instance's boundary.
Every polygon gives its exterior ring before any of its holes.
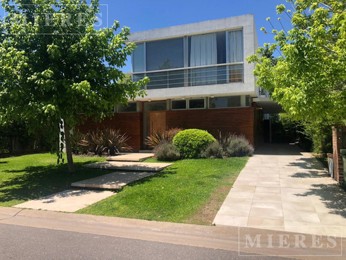
{"type": "MultiPolygon", "coordinates": [[[[196,35],[191,37],[190,66],[217,64],[217,34],[196,35]]],[[[192,69],[191,84],[216,84],[216,68],[192,69]]]]}

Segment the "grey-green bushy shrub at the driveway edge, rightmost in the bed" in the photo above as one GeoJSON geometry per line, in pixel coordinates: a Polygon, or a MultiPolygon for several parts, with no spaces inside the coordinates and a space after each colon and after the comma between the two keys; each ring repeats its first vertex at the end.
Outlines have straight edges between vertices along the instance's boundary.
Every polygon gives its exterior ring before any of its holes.
{"type": "Polygon", "coordinates": [[[243,157],[253,155],[253,146],[244,136],[233,135],[230,144],[227,147],[228,157],[243,157]]]}

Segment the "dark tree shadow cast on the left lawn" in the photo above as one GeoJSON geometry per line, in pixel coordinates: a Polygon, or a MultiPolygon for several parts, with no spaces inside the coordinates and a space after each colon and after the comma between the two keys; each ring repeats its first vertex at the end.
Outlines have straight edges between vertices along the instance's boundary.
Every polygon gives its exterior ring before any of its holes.
{"type": "Polygon", "coordinates": [[[75,162],[75,173],[69,174],[66,164],[48,166],[28,166],[21,170],[4,171],[17,176],[0,184],[0,203],[11,200],[33,200],[69,189],[71,182],[110,173],[107,170],[83,168],[82,165],[94,161],[75,162]],[[22,174],[20,174],[22,173],[22,174]]]}

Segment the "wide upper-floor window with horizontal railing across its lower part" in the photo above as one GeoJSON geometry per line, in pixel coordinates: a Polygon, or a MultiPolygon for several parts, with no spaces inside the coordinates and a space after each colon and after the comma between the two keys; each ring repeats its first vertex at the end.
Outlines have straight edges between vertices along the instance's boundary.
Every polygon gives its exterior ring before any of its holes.
{"type": "Polygon", "coordinates": [[[223,31],[136,44],[134,80],[146,89],[244,82],[243,31],[223,31]],[[154,72],[155,71],[155,72],[154,72]]]}

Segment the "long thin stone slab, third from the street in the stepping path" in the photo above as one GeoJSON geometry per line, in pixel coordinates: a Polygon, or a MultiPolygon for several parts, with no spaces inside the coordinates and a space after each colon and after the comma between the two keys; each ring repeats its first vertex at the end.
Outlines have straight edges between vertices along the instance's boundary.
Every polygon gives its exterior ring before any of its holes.
{"type": "Polygon", "coordinates": [[[86,164],[86,168],[104,168],[117,171],[161,171],[172,164],[154,163],[154,162],[95,162],[86,164]]]}

